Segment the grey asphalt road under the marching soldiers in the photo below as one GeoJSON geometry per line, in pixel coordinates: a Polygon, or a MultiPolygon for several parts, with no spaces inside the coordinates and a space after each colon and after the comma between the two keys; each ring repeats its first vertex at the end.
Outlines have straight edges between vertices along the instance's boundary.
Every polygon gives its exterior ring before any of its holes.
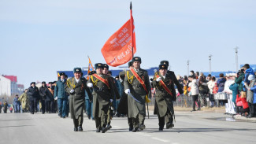
{"type": "Polygon", "coordinates": [[[57,114],[30,113],[0,114],[0,143],[64,144],[64,143],[255,143],[256,123],[233,120],[223,113],[176,112],[172,129],[158,131],[158,117],[150,112],[146,129],[128,131],[127,118],[114,117],[113,128],[105,134],[95,132],[95,121],[84,115],[83,131],[73,131],[70,118],[57,114]]]}

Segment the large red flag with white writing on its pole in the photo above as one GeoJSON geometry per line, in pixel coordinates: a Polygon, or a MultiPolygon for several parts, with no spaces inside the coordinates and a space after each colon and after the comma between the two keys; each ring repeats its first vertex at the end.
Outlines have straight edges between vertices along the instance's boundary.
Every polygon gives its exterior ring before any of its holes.
{"type": "Polygon", "coordinates": [[[106,64],[117,67],[132,60],[132,50],[133,54],[135,54],[135,26],[131,5],[130,20],[110,36],[102,47],[102,55],[105,58],[106,64]]]}

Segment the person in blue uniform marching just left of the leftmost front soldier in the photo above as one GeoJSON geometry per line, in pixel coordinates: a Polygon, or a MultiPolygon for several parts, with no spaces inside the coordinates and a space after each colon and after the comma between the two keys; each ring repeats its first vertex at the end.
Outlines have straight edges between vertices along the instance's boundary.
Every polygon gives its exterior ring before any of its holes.
{"type": "Polygon", "coordinates": [[[58,116],[66,117],[66,108],[68,102],[68,95],[65,92],[65,73],[60,73],[61,79],[59,79],[54,88],[54,98],[58,98],[58,116]]]}

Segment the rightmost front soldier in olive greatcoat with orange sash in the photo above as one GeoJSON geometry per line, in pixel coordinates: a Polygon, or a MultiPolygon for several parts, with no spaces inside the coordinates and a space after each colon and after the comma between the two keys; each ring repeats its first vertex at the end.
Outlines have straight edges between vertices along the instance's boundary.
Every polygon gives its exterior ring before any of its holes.
{"type": "Polygon", "coordinates": [[[176,99],[176,95],[173,95],[173,91],[175,91],[173,76],[167,72],[167,68],[167,65],[159,65],[159,73],[155,74],[152,82],[153,87],[156,88],[155,109],[158,114],[159,131],[163,131],[165,120],[167,129],[174,127],[173,101],[176,99]]]}

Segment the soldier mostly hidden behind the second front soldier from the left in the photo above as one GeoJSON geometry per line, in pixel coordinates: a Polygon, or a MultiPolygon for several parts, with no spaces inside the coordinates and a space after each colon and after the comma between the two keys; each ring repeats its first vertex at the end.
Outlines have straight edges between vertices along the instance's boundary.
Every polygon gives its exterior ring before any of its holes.
{"type": "Polygon", "coordinates": [[[112,84],[112,87],[113,87],[113,90],[114,90],[114,94],[115,94],[115,95],[113,95],[113,102],[111,102],[111,104],[109,106],[109,112],[108,112],[107,128],[108,128],[108,130],[110,130],[110,128],[112,128],[112,126],[110,124],[111,124],[111,119],[113,117],[113,110],[111,110],[111,108],[114,108],[114,110],[116,110],[116,108],[115,108],[115,102],[116,101],[115,100],[116,99],[120,99],[120,94],[118,93],[117,86],[115,84],[115,79],[113,79],[113,77],[111,76],[112,73],[109,71],[109,65],[103,64],[103,71],[102,71],[102,73],[104,75],[108,75],[109,76],[109,78],[110,78],[110,83],[109,84],[112,84]]]}

